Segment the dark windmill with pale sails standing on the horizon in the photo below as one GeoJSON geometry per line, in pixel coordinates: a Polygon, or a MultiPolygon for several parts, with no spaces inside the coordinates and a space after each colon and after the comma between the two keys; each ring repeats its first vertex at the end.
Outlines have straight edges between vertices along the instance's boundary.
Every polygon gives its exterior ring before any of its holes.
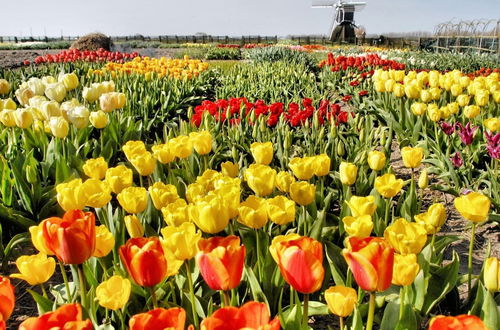
{"type": "Polygon", "coordinates": [[[356,40],[354,12],[363,10],[366,2],[338,0],[312,0],[313,8],[335,8],[335,16],[330,28],[330,40],[354,42],[356,40]]]}

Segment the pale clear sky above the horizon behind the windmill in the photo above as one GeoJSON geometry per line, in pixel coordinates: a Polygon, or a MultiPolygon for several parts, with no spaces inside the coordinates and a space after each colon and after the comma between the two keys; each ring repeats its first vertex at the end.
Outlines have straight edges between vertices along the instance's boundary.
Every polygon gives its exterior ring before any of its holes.
{"type": "MultiPolygon", "coordinates": [[[[500,18],[500,0],[366,0],[368,34],[434,30],[457,19],[500,18]]],[[[327,34],[333,11],[310,0],[1,0],[0,35],[327,34]]]]}

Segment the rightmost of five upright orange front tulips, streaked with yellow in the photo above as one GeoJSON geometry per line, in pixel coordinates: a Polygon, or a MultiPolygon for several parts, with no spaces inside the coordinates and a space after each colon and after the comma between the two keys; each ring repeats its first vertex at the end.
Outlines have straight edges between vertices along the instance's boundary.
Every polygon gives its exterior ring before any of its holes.
{"type": "Polygon", "coordinates": [[[383,238],[349,238],[344,255],[356,283],[365,291],[385,291],[391,286],[394,249],[383,238]]]}

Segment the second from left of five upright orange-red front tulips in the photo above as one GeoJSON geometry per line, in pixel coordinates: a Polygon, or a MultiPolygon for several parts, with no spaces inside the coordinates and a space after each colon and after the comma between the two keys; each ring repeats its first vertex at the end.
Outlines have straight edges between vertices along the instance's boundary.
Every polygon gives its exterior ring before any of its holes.
{"type": "Polygon", "coordinates": [[[155,286],[167,276],[167,259],[156,236],[131,238],[118,252],[130,276],[141,286],[155,286]]]}

